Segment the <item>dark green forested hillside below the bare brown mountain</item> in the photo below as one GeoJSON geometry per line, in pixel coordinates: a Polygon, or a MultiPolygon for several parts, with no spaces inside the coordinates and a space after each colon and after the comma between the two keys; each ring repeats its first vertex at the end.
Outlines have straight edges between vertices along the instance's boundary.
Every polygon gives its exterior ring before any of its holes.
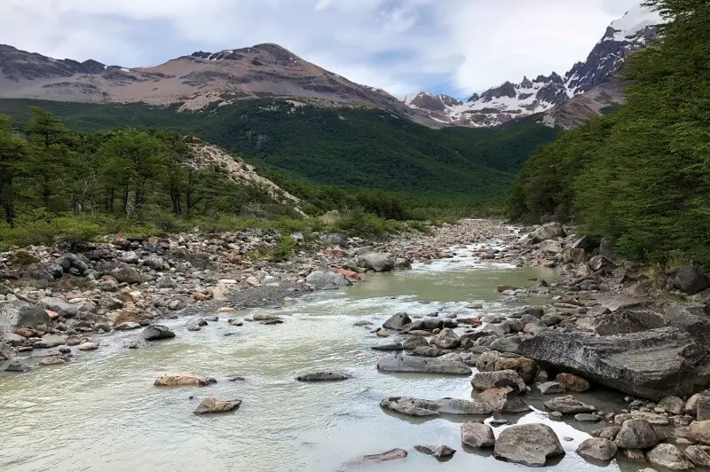
{"type": "Polygon", "coordinates": [[[492,130],[431,130],[377,109],[294,103],[246,100],[178,113],[140,104],[0,100],[0,114],[23,125],[28,106],[38,105],[77,131],[134,126],[189,133],[314,183],[477,197],[504,193],[533,150],[556,136],[532,118],[492,130]]]}

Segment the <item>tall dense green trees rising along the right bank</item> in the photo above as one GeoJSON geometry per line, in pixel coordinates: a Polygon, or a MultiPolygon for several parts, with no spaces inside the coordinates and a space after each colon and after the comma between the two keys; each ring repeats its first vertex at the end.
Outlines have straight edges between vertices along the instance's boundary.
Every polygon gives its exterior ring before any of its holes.
{"type": "Polygon", "coordinates": [[[626,104],[541,146],[509,215],[576,222],[633,260],[710,264],[710,4],[648,4],[673,21],[628,61],[626,104]]]}

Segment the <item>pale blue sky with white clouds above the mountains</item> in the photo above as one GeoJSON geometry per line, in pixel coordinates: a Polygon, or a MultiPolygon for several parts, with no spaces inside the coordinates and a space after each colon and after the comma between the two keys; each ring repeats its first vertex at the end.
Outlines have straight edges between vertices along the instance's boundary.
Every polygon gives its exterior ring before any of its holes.
{"type": "Polygon", "coordinates": [[[587,57],[640,0],[0,0],[0,43],[57,59],[162,64],[278,43],[402,97],[466,98],[587,57]]]}

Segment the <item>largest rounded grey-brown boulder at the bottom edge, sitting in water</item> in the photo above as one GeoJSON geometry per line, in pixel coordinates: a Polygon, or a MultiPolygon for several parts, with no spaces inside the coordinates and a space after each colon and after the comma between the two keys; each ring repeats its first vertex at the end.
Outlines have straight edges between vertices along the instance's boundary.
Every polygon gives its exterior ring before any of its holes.
{"type": "Polygon", "coordinates": [[[549,426],[532,423],[503,430],[495,443],[493,456],[530,467],[544,467],[548,460],[564,455],[555,431],[549,426]]]}

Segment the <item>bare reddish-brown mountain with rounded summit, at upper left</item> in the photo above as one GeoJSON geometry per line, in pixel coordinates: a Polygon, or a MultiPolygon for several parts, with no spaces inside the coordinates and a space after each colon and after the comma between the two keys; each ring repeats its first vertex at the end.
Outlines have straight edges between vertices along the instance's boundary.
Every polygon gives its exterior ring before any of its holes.
{"type": "MultiPolygon", "coordinates": [[[[156,67],[77,62],[0,45],[0,98],[80,103],[180,104],[181,110],[242,98],[298,98],[321,106],[371,106],[418,116],[384,90],[352,83],[277,44],[197,51],[156,67]]],[[[424,120],[422,118],[422,120],[424,120]]]]}

